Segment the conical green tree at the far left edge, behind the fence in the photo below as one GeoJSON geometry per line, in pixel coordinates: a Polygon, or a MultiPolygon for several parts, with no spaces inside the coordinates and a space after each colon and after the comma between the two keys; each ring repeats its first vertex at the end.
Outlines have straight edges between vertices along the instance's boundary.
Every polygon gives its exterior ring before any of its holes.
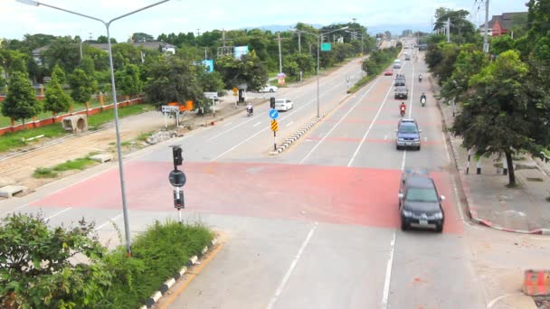
{"type": "Polygon", "coordinates": [[[21,120],[24,125],[24,119],[38,115],[41,110],[42,106],[36,99],[28,75],[14,72],[9,81],[7,96],[2,102],[2,115],[21,120]]]}

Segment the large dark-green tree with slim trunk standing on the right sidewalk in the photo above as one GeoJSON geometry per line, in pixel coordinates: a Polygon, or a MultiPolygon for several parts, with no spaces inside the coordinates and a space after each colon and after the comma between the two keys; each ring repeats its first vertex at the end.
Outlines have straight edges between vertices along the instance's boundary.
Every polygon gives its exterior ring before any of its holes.
{"type": "Polygon", "coordinates": [[[509,186],[516,185],[512,155],[536,154],[550,136],[549,104],[524,86],[528,73],[519,52],[501,53],[469,80],[462,111],[451,128],[463,136],[464,146],[476,149],[476,155],[504,154],[509,186]]]}

